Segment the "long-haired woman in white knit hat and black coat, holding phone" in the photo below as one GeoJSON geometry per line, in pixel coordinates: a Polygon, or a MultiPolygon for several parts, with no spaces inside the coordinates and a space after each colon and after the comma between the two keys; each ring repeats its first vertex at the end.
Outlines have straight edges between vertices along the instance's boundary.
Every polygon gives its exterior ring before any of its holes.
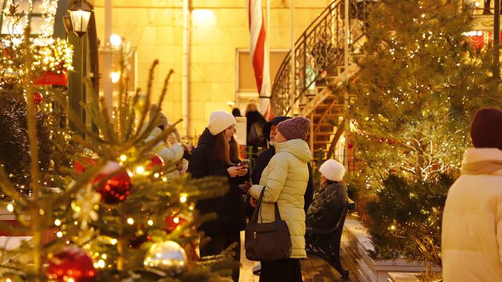
{"type": "MultiPolygon", "coordinates": [[[[193,150],[188,173],[192,178],[226,176],[229,191],[223,196],[199,201],[197,210],[201,214],[216,213],[218,218],[208,221],[199,230],[211,237],[211,241],[200,248],[201,256],[221,253],[228,246],[237,243],[235,260],[241,258],[241,230],[245,227],[244,200],[240,185],[249,178],[248,166],[239,166],[238,143],[234,139],[236,120],[225,111],[213,111],[209,124],[193,150]]],[[[232,278],[238,281],[239,267],[233,269],[232,278]]]]}

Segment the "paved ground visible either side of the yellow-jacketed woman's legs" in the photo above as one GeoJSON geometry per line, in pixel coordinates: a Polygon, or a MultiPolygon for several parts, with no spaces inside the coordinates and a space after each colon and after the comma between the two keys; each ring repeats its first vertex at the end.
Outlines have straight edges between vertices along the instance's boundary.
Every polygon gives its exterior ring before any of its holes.
{"type": "MultiPolygon", "coordinates": [[[[243,235],[244,233],[241,233],[242,242],[244,242],[243,235]]],[[[254,265],[254,262],[245,258],[244,244],[241,245],[241,277],[239,281],[258,282],[259,276],[252,274],[252,266],[254,265]]],[[[309,256],[309,258],[301,261],[301,265],[304,282],[343,281],[340,279],[340,274],[318,256],[309,256]]],[[[353,274],[350,275],[350,280],[345,281],[357,282],[353,274]]]]}

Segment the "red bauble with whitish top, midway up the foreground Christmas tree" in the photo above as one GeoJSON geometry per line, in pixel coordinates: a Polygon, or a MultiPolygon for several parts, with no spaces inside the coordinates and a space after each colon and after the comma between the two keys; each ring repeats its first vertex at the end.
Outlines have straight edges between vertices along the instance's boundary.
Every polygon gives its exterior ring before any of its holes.
{"type": "Polygon", "coordinates": [[[101,194],[101,201],[114,204],[126,200],[130,195],[131,179],[127,169],[120,166],[118,162],[109,161],[93,179],[93,185],[100,185],[98,192],[101,194]],[[114,175],[109,178],[112,173],[114,175]],[[109,179],[101,183],[105,178],[109,179]]]}

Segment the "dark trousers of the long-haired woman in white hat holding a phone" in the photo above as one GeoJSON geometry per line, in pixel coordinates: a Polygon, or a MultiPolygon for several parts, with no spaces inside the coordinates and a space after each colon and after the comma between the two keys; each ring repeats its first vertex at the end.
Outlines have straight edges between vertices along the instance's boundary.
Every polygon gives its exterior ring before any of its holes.
{"type": "Polygon", "coordinates": [[[241,233],[214,233],[206,236],[211,237],[211,241],[200,247],[201,257],[219,255],[228,246],[237,243],[236,249],[234,249],[236,253],[234,260],[237,261],[238,265],[232,269],[232,279],[234,279],[234,282],[238,282],[239,264],[241,263],[241,233]]]}

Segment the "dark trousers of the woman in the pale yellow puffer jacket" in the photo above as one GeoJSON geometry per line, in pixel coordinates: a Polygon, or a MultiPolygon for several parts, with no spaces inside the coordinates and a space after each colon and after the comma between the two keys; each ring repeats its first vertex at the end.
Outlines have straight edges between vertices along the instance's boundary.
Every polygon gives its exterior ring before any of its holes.
{"type": "Polygon", "coordinates": [[[301,265],[298,258],[261,262],[259,282],[301,282],[301,265]]]}

